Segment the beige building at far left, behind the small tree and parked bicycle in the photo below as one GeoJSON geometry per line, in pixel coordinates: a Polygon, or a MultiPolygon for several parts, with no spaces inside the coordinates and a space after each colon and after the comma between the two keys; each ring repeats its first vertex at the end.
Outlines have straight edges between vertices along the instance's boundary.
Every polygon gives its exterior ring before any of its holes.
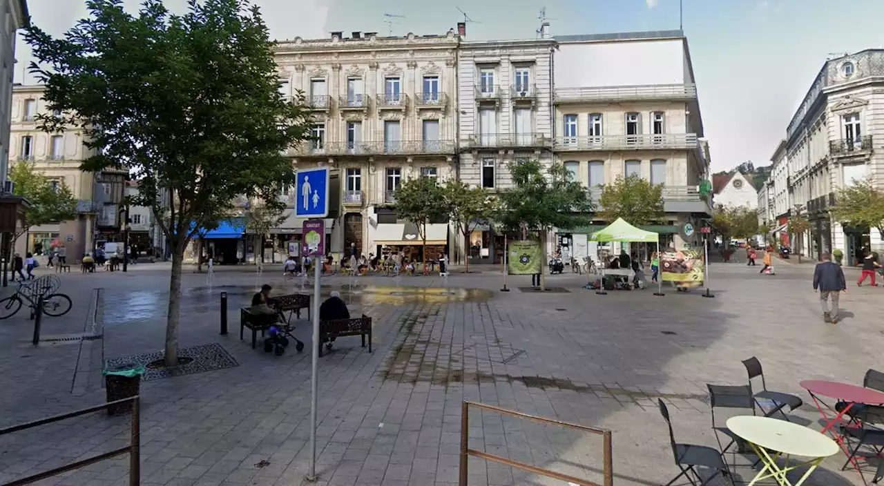
{"type": "MultiPolygon", "coordinates": [[[[79,215],[71,221],[59,221],[30,228],[26,236],[15,242],[21,254],[47,250],[52,240],[65,245],[69,255],[91,251],[95,232],[100,228],[118,233],[118,206],[105,210],[104,201],[112,201],[110,186],[97,183],[95,174],[80,171],[80,164],[91,156],[83,144],[83,133],[77,127],[61,133],[45,133],[38,127],[36,116],[47,114],[42,99],[42,85],[16,85],[12,89],[11,136],[8,163],[33,163],[36,171],[50,178],[53,184],[64,184],[78,199],[79,215]],[[108,213],[110,211],[110,213],[108,213]],[[108,213],[108,214],[105,214],[108,213]],[[103,222],[107,223],[102,226],[103,222]]],[[[122,187],[119,187],[122,197],[122,187]]]]}

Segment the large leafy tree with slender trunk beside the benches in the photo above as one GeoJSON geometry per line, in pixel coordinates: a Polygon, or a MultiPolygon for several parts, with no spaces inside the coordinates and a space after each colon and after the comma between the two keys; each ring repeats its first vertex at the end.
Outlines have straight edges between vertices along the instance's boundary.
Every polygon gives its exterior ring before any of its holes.
{"type": "Polygon", "coordinates": [[[295,179],[282,154],[312,124],[300,94],[296,103],[279,95],[274,43],[248,0],[190,1],[184,15],[161,0],[143,0],[136,15],[119,0],[88,0],[87,9],[62,38],[27,27],[47,112],[64,113],[38,123],[47,132],[78,126],[96,154],[84,171],[130,171],[142,189],[133,203],[166,213],[158,219],[172,253],[164,361],[173,367],[188,242],[236,195],[276,201],[295,179]]]}

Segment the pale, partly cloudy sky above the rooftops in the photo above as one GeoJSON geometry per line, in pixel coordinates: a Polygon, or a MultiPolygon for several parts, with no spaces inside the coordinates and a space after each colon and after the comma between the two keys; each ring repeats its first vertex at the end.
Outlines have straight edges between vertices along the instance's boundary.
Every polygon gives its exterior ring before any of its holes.
{"type": "MultiPolygon", "coordinates": [[[[468,37],[535,37],[540,9],[552,34],[604,34],[679,27],[679,0],[253,0],[277,39],[329,31],[443,34],[469,19],[468,37]],[[385,17],[385,13],[397,17],[385,17]],[[385,20],[392,20],[387,23],[385,20]]],[[[827,57],[884,48],[884,1],[682,0],[713,171],[766,165],[827,57]]],[[[140,0],[124,0],[137,8],[140,0]]],[[[166,0],[184,11],[186,0],[166,0]]],[[[83,0],[29,0],[34,23],[61,35],[86,14],[83,0]]],[[[134,10],[133,10],[134,11],[134,10]]],[[[19,42],[16,81],[33,82],[19,42]]],[[[603,66],[616,69],[616,66],[603,66]]]]}

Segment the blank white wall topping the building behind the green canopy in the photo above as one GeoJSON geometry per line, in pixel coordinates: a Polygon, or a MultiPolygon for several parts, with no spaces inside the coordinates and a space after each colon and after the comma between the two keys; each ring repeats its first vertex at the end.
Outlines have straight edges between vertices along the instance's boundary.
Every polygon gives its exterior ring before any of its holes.
{"type": "Polygon", "coordinates": [[[555,52],[556,87],[692,83],[681,39],[562,43],[555,52]]]}

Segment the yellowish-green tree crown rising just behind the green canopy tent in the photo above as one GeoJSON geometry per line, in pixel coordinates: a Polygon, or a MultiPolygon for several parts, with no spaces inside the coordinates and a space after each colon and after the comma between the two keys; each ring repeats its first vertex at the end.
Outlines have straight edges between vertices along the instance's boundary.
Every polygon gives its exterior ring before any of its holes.
{"type": "Polygon", "coordinates": [[[602,187],[599,198],[601,210],[598,216],[613,223],[622,217],[629,224],[659,223],[666,216],[663,209],[663,186],[631,175],[618,177],[612,184],[602,187]]]}

